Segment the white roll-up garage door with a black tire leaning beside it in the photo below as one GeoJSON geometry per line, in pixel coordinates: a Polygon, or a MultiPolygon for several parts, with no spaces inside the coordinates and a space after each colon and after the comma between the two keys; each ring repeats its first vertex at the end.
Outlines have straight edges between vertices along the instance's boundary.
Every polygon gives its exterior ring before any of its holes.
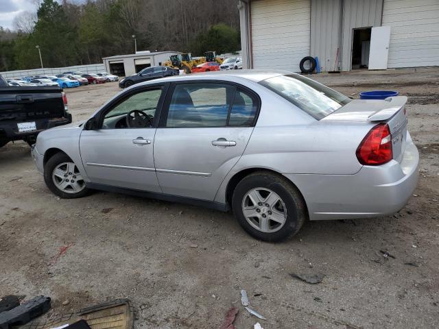
{"type": "Polygon", "coordinates": [[[253,68],[300,71],[309,56],[311,0],[257,0],[250,8],[253,68]]]}

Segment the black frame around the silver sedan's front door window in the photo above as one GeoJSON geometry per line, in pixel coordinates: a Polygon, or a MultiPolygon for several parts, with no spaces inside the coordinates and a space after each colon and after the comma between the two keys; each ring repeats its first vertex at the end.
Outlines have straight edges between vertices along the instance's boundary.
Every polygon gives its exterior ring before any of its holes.
{"type": "MultiPolygon", "coordinates": [[[[115,108],[115,106],[118,106],[120,103],[122,103],[123,101],[125,101],[126,99],[131,97],[132,95],[136,95],[138,93],[143,93],[144,91],[147,91],[147,90],[155,90],[157,88],[162,88],[162,95],[158,99],[156,113],[154,114],[154,119],[152,121],[152,127],[147,127],[147,128],[158,127],[158,122],[160,121],[161,113],[163,110],[163,103],[165,102],[165,99],[166,99],[167,93],[168,93],[168,89],[169,89],[169,82],[160,83],[160,84],[148,84],[147,86],[139,86],[137,88],[132,88],[130,91],[128,91],[126,93],[122,93],[121,95],[119,95],[115,99],[112,99],[112,101],[110,101],[110,103],[106,104],[106,106],[104,106],[104,108],[99,110],[99,112],[97,112],[97,114],[95,115],[95,119],[97,119],[97,122],[98,122],[96,130],[102,130],[102,125],[104,124],[105,115],[108,112],[110,112],[110,110],[115,108]]],[[[131,129],[131,128],[128,128],[128,129],[131,129]]],[[[145,128],[143,128],[143,129],[145,129],[145,128]]]]}

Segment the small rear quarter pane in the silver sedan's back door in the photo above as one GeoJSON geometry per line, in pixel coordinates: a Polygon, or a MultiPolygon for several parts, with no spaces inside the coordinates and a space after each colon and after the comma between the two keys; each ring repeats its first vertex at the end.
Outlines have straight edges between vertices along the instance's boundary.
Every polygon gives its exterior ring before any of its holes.
{"type": "Polygon", "coordinates": [[[237,89],[235,99],[233,99],[232,110],[228,125],[232,127],[247,127],[254,123],[257,114],[257,99],[254,95],[246,93],[244,90],[237,89]]]}

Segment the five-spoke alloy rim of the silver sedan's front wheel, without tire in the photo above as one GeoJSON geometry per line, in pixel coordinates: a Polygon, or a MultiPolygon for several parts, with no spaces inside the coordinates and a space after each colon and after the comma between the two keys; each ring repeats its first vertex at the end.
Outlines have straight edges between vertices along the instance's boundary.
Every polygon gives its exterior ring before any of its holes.
{"type": "Polygon", "coordinates": [[[73,162],[62,162],[52,172],[56,188],[64,193],[78,193],[84,190],[85,182],[73,162]]]}

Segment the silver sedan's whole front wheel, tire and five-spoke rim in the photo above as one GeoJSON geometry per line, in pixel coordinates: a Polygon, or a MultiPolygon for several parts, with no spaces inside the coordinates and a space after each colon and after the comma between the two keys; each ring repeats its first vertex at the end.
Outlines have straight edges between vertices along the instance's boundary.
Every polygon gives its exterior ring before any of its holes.
{"type": "Polygon", "coordinates": [[[44,180],[50,191],[63,199],[75,199],[90,193],[76,164],[62,152],[45,164],[44,180]]]}

